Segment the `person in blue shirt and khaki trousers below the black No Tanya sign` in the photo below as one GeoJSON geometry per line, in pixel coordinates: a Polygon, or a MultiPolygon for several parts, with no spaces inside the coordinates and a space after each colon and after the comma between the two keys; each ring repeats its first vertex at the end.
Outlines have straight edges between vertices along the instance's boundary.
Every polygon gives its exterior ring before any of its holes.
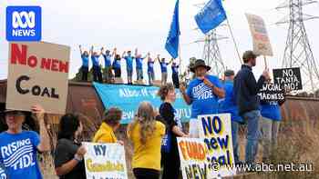
{"type": "Polygon", "coordinates": [[[269,162],[273,148],[277,145],[279,125],[282,121],[280,105],[284,101],[261,102],[261,134],[262,134],[262,162],[269,162]]]}

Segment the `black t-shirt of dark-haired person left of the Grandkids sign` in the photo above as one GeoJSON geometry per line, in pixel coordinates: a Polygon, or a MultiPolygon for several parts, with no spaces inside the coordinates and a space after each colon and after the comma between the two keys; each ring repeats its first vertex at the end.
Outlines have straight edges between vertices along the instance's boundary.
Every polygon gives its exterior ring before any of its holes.
{"type": "MultiPolygon", "coordinates": [[[[74,159],[74,155],[77,154],[77,149],[80,144],[76,144],[69,139],[59,139],[57,141],[57,147],[55,151],[55,167],[58,168],[68,161],[74,159]]],[[[85,179],[86,168],[84,161],[77,163],[77,165],[67,174],[60,176],[61,179],[85,179]]]]}

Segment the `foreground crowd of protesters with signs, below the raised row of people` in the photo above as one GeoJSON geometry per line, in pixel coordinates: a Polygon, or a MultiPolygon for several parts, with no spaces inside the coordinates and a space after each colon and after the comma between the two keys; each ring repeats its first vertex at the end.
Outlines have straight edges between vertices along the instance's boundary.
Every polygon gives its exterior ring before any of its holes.
{"type": "MultiPolygon", "coordinates": [[[[176,137],[199,137],[197,117],[201,114],[232,114],[232,144],[235,164],[255,164],[258,143],[262,140],[262,162],[269,160],[281,121],[280,107],[277,102],[260,103],[257,93],[263,83],[270,80],[268,70],[264,70],[258,81],[252,74],[256,58],[252,51],[243,54],[241,70],[235,75],[232,70],[224,72],[225,79],[220,81],[217,76],[208,75],[211,69],[201,59],[190,66],[195,78],[188,87],[180,85],[180,93],[187,104],[191,105],[190,130],[186,133],[180,118],[174,109],[176,99],[175,86],[161,85],[158,95],[162,104],[157,111],[149,102],[139,104],[133,121],[127,127],[127,136],[133,144],[133,174],[137,179],[159,179],[160,169],[163,179],[180,178],[180,157],[176,137]],[[238,128],[247,125],[247,144],[245,161],[239,156],[238,128]],[[170,148],[163,150],[162,138],[170,134],[170,148]]],[[[36,105],[32,109],[39,122],[39,134],[22,130],[25,115],[19,111],[5,111],[8,130],[0,134],[0,166],[4,166],[9,178],[42,178],[36,162],[36,152],[50,150],[49,137],[44,123],[44,110],[36,105]],[[24,142],[23,142],[24,141],[24,142]],[[15,154],[19,148],[29,144],[28,153],[15,154]],[[15,146],[15,148],[13,147],[15,146]],[[30,164],[12,162],[15,157],[28,154],[30,164]]],[[[115,132],[118,130],[122,111],[117,107],[109,108],[103,117],[102,124],[92,138],[94,143],[118,143],[115,132]]],[[[76,114],[65,114],[59,123],[57,146],[55,149],[55,167],[60,178],[86,178],[83,162],[86,148],[78,140],[83,126],[76,114]]],[[[0,167],[1,168],[1,167],[0,167]]]]}

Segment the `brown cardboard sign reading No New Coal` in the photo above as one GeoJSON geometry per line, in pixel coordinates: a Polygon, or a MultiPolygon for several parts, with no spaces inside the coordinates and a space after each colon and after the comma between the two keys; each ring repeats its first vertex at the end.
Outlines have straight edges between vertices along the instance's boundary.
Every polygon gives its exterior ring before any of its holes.
{"type": "Polygon", "coordinates": [[[6,108],[65,114],[70,48],[44,42],[10,43],[6,108]]]}

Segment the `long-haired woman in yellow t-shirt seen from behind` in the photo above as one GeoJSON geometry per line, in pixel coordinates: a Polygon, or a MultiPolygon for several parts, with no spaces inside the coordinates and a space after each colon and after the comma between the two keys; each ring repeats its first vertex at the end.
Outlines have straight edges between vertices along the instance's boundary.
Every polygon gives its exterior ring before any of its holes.
{"type": "Polygon", "coordinates": [[[137,179],[160,177],[160,146],[165,125],[156,121],[155,114],[149,102],[142,102],[128,126],[128,138],[134,146],[132,168],[137,179]]]}

